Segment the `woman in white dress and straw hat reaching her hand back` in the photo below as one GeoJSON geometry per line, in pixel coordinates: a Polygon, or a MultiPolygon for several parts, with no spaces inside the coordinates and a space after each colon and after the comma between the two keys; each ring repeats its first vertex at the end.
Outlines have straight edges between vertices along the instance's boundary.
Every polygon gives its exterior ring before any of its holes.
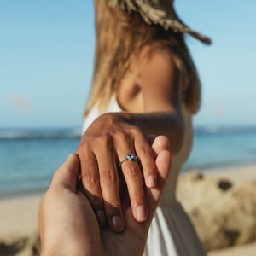
{"type": "Polygon", "coordinates": [[[191,117],[201,101],[200,80],[183,37],[187,32],[204,43],[210,40],[183,25],[172,0],[96,0],[95,7],[95,69],[78,148],[84,191],[99,223],[122,231],[124,179],[134,218],[144,222],[143,182],[153,188],[160,178],[147,136],[165,135],[172,170],[144,253],[205,255],[175,189],[192,145],[191,117]]]}

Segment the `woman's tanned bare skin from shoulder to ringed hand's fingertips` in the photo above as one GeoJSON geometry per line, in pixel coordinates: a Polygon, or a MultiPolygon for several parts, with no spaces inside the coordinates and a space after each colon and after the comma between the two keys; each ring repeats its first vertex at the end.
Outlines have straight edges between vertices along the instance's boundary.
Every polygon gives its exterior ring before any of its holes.
{"type": "Polygon", "coordinates": [[[145,46],[121,80],[116,96],[122,113],[104,113],[84,132],[77,154],[81,160],[84,193],[100,224],[114,231],[125,227],[119,190],[128,188],[134,218],[148,218],[143,183],[158,180],[148,134],[165,135],[176,154],[183,142],[182,78],[170,51],[145,46]],[[137,154],[139,162],[119,161],[137,154]],[[124,185],[123,185],[124,184],[124,185]]]}

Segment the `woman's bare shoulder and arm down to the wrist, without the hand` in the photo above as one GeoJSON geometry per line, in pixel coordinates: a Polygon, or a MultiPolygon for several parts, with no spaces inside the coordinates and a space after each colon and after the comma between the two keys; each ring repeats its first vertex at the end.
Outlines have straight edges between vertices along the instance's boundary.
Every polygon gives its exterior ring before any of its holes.
{"type": "Polygon", "coordinates": [[[134,62],[121,81],[118,101],[144,132],[168,137],[176,154],[184,134],[183,79],[177,64],[169,50],[151,51],[147,46],[134,62]]]}

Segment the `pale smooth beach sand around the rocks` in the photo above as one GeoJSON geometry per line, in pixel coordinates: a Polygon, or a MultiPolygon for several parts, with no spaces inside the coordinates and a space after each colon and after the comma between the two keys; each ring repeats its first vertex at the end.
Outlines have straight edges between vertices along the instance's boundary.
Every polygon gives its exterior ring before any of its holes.
{"type": "MultiPolygon", "coordinates": [[[[233,183],[245,183],[256,180],[255,166],[237,166],[225,170],[205,172],[209,176],[228,178],[233,183]]],[[[38,207],[43,193],[35,195],[19,195],[0,199],[0,244],[22,236],[31,236],[38,228],[38,207]]],[[[248,245],[224,248],[208,252],[209,256],[236,256],[256,254],[256,242],[248,245]]],[[[1,253],[0,247],[0,255],[1,253]]],[[[15,255],[15,254],[14,254],[15,255]]]]}

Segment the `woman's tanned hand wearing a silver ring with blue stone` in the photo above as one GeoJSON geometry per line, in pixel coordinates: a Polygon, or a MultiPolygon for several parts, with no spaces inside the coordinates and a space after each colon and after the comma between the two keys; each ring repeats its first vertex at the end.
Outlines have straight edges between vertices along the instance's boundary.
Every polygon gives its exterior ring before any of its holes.
{"type": "Polygon", "coordinates": [[[134,218],[137,222],[148,218],[143,183],[154,188],[157,168],[148,137],[130,113],[105,113],[97,118],[84,132],[77,153],[84,192],[101,225],[124,230],[120,196],[125,186],[134,218]],[[138,160],[119,165],[127,154],[137,155],[138,160]]]}

